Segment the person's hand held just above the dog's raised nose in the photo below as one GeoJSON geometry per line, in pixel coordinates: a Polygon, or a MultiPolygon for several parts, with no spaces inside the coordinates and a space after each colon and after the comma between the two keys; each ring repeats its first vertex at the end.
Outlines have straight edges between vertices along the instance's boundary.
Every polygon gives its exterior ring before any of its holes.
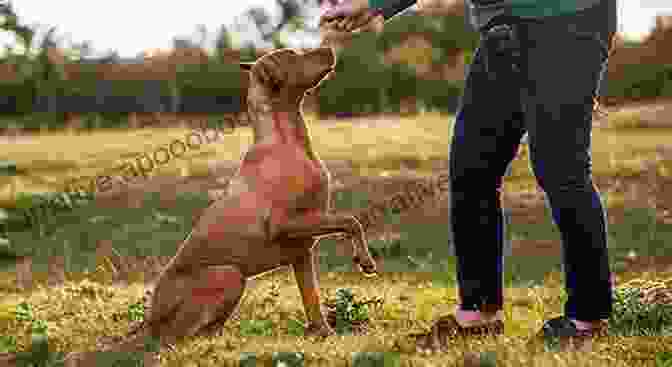
{"type": "Polygon", "coordinates": [[[329,2],[320,16],[320,27],[338,32],[378,30],[382,18],[369,8],[368,0],[326,0],[329,2]],[[375,24],[375,26],[374,26],[375,24]],[[360,29],[364,27],[364,29],[360,29]]]}

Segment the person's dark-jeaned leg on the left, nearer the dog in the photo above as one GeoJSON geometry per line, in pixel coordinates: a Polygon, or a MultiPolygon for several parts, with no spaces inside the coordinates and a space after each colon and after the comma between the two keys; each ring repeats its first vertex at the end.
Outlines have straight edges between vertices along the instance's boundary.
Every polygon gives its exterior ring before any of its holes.
{"type": "Polygon", "coordinates": [[[500,189],[524,133],[518,85],[509,57],[482,42],[469,69],[450,148],[450,225],[461,300],[456,316],[463,326],[478,323],[477,311],[492,314],[503,308],[500,189]]]}

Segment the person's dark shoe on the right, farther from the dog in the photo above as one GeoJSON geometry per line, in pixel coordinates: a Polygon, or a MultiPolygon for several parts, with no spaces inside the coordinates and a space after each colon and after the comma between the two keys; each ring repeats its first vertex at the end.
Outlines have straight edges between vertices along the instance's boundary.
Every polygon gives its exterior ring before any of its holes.
{"type": "Polygon", "coordinates": [[[606,335],[606,322],[601,322],[598,327],[590,330],[580,330],[572,320],[559,316],[546,321],[534,341],[542,342],[550,349],[584,350],[592,346],[594,339],[606,335]]]}

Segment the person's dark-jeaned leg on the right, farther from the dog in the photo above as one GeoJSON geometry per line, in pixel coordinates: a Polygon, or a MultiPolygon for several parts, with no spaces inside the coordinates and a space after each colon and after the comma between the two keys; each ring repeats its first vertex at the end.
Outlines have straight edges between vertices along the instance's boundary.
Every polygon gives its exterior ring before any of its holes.
{"type": "Polygon", "coordinates": [[[595,11],[520,28],[532,166],[562,235],[565,316],[581,321],[612,312],[606,220],[590,158],[593,98],[610,34],[600,28],[595,11]]]}

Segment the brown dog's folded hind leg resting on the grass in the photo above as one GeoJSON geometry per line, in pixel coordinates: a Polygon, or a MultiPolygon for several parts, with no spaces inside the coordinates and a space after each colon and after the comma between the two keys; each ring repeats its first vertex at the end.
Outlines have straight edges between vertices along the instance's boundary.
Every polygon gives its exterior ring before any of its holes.
{"type": "Polygon", "coordinates": [[[245,289],[245,277],[233,265],[208,266],[162,277],[154,300],[157,305],[176,295],[180,301],[172,312],[155,313],[149,322],[152,335],[161,338],[161,344],[174,344],[184,337],[193,336],[206,326],[223,322],[234,311],[245,289]],[[174,293],[174,294],[171,294],[174,293]]]}

